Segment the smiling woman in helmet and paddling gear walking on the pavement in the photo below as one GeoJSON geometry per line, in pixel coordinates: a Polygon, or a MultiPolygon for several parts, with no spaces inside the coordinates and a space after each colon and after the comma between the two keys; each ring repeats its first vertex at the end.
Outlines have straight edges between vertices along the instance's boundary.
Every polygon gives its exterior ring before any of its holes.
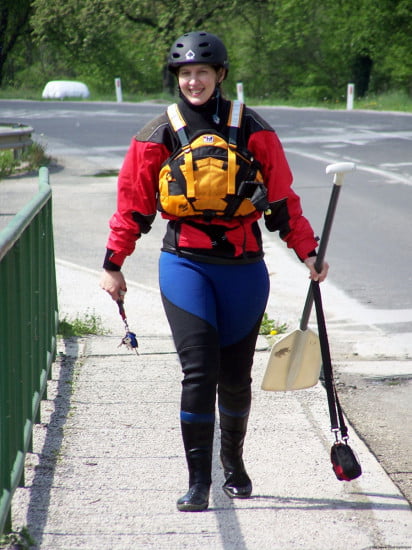
{"type": "Polygon", "coordinates": [[[189,490],[180,511],[208,507],[215,401],[221,429],[223,490],[248,498],[243,463],[251,404],[251,368],[269,294],[258,219],[314,268],[317,241],[274,130],[249,108],[221,95],[229,63],[224,44],[206,32],[173,44],[177,108],[132,140],[119,174],[101,287],[122,299],[121,266],[150,230],[156,210],[168,220],[159,263],[165,312],[182,365],[180,421],[189,490]]]}

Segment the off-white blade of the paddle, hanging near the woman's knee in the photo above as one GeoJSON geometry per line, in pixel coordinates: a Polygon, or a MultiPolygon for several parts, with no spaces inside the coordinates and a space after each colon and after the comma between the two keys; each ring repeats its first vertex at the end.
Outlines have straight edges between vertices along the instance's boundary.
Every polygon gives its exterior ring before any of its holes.
{"type": "Polygon", "coordinates": [[[322,367],[318,335],[295,330],[281,338],[270,353],[262,390],[302,390],[317,384],[322,367]]]}

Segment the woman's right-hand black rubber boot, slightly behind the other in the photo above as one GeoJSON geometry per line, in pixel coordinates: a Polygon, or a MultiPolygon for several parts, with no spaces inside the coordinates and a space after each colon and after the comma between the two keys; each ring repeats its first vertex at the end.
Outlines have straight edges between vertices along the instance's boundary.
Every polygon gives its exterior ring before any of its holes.
{"type": "Polygon", "coordinates": [[[247,421],[248,415],[239,418],[220,413],[220,459],[226,479],[222,488],[230,498],[249,498],[252,494],[252,481],[242,458],[247,421]]]}

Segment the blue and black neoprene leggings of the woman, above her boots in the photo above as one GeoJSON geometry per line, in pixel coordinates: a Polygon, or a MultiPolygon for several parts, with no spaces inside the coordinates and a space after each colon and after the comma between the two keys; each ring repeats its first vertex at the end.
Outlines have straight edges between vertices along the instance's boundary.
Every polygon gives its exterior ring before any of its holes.
{"type": "Polygon", "coordinates": [[[256,339],[269,295],[263,260],[222,265],[162,252],[160,290],[183,370],[181,415],[214,421],[245,416],[256,339]]]}

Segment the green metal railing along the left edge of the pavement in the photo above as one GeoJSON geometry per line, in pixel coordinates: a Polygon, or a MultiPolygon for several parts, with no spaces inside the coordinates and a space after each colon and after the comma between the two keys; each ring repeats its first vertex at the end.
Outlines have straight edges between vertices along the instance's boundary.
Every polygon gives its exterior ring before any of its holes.
{"type": "Polygon", "coordinates": [[[37,195],[0,232],[0,534],[24,485],[25,455],[56,355],[52,200],[47,168],[37,195]]]}

